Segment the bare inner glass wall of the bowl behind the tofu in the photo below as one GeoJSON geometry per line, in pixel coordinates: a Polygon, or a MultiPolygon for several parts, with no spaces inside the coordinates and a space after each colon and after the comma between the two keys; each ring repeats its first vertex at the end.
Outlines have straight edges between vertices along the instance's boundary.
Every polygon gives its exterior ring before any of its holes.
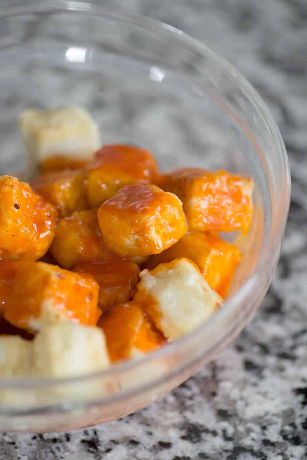
{"type": "MultiPolygon", "coordinates": [[[[250,276],[270,219],[270,202],[263,200],[268,184],[255,145],[210,87],[216,69],[189,56],[176,40],[113,16],[102,24],[78,12],[16,15],[1,24],[1,43],[1,173],[26,167],[18,132],[23,109],[72,104],[90,111],[102,143],[152,150],[164,171],[189,166],[251,175],[262,212],[248,238],[238,240],[249,265],[240,265],[236,279],[250,276]],[[199,65],[207,67],[201,81],[199,65]]],[[[231,292],[238,286],[234,281],[231,292]]]]}

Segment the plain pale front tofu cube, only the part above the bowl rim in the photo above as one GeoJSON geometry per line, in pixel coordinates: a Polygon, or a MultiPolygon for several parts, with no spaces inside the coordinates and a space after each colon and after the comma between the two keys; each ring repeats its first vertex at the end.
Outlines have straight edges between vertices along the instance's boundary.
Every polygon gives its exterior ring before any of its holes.
{"type": "Polygon", "coordinates": [[[108,368],[110,361],[101,328],[77,324],[54,324],[36,335],[34,374],[72,377],[108,368]]]}

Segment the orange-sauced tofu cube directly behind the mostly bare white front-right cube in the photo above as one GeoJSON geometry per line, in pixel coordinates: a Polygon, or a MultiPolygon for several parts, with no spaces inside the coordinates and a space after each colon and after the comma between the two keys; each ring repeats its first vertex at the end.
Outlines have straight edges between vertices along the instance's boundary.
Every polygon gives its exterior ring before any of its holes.
{"type": "Polygon", "coordinates": [[[239,249],[217,235],[191,230],[176,244],[150,257],[146,268],[185,257],[196,264],[209,286],[224,299],[241,261],[239,249]]]}

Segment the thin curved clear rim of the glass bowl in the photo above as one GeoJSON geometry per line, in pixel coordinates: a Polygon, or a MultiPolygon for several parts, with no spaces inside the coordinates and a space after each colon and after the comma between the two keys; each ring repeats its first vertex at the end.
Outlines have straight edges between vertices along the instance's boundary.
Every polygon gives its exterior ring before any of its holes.
{"type": "MultiPolygon", "coordinates": [[[[13,6],[1,6],[0,20],[2,20],[5,17],[10,17],[14,15],[21,16],[31,13],[68,13],[70,11],[74,13],[95,14],[95,16],[108,17],[114,20],[125,21],[126,23],[133,23],[136,26],[152,30],[155,33],[163,34],[166,37],[170,37],[171,39],[176,38],[176,40],[183,43],[185,46],[188,46],[193,51],[197,51],[203,56],[209,56],[210,59],[212,59],[215,62],[217,68],[223,69],[225,72],[229,74],[235,72],[236,75],[238,75],[240,87],[244,89],[245,96],[249,99],[249,102],[251,102],[254,105],[254,107],[258,109],[262,117],[267,122],[267,126],[270,127],[272,141],[276,147],[279,162],[282,165],[282,195],[280,196],[278,206],[275,207],[274,213],[272,213],[272,223],[269,236],[262,247],[261,253],[259,254],[252,275],[246,282],[244,282],[244,284],[239,288],[239,290],[236,293],[234,293],[233,296],[227,300],[227,302],[225,302],[221,310],[216,312],[216,314],[213,315],[207,322],[200,325],[199,328],[193,331],[193,333],[184,336],[182,339],[179,339],[176,342],[167,344],[159,350],[153,351],[152,353],[146,355],[145,357],[117,364],[114,367],[111,367],[105,371],[96,374],[88,374],[63,379],[6,379],[0,380],[0,388],[9,387],[11,389],[14,388],[16,390],[18,388],[27,390],[37,389],[41,387],[46,388],[48,386],[58,385],[61,383],[76,384],[77,382],[84,382],[86,380],[92,380],[95,378],[102,378],[111,375],[116,377],[117,374],[120,374],[123,371],[131,370],[133,368],[142,366],[142,364],[149,363],[150,361],[153,361],[156,358],[170,356],[174,351],[176,351],[177,347],[182,346],[185,343],[188,343],[192,335],[195,336],[195,334],[205,334],[205,331],[209,328],[214,328],[214,325],[220,322],[222,317],[229,315],[229,313],[233,309],[233,305],[236,305],[238,302],[242,302],[244,300],[248,301],[248,298],[250,297],[250,295],[252,295],[253,289],[257,285],[258,278],[262,273],[262,270],[265,269],[267,261],[270,258],[271,248],[274,239],[277,238],[278,240],[281,240],[283,237],[284,227],[290,205],[289,161],[284,146],[284,142],[281,138],[279,129],[275,121],[273,120],[272,115],[270,114],[266,104],[263,102],[262,98],[258,95],[256,90],[254,90],[250,83],[237,71],[237,69],[235,69],[232,64],[228,63],[228,61],[225,58],[218,56],[215,52],[210,50],[210,48],[204,45],[202,42],[193,39],[189,35],[183,33],[181,30],[176,29],[175,27],[168,25],[166,23],[162,23],[139,14],[122,12],[116,9],[110,9],[104,6],[100,6],[98,4],[92,4],[90,2],[56,0],[52,3],[40,3],[40,1],[33,1],[28,5],[15,4],[13,6]]],[[[188,364],[189,362],[186,363],[186,365],[188,364]]],[[[175,371],[173,370],[170,373],[165,374],[165,376],[160,377],[156,382],[152,381],[152,383],[159,383],[160,381],[163,381],[166,378],[168,378],[174,372],[175,371]]],[[[149,384],[145,385],[145,387],[148,386],[149,384]]],[[[110,402],[112,400],[118,399],[119,397],[128,396],[129,394],[131,394],[131,392],[135,393],[136,391],[141,390],[142,385],[133,388],[133,390],[119,391],[114,395],[102,398],[100,401],[110,402]]]]}

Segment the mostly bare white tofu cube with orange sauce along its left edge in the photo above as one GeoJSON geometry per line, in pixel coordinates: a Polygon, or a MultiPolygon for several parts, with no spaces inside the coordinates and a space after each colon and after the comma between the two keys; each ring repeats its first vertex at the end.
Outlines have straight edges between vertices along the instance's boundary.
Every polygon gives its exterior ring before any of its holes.
{"type": "Polygon", "coordinates": [[[134,300],[169,342],[192,332],[222,304],[191,260],[160,264],[140,276],[134,300]]]}

